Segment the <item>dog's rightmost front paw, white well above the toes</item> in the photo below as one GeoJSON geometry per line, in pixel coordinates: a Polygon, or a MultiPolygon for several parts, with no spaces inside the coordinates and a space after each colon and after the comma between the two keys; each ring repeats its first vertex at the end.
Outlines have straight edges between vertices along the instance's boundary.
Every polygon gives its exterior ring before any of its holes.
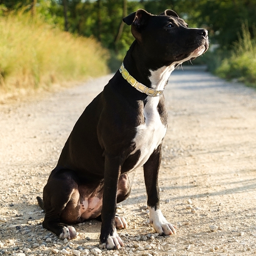
{"type": "Polygon", "coordinates": [[[153,225],[154,230],[160,235],[173,235],[176,233],[175,226],[166,221],[160,209],[148,207],[149,209],[149,222],[153,225]]]}

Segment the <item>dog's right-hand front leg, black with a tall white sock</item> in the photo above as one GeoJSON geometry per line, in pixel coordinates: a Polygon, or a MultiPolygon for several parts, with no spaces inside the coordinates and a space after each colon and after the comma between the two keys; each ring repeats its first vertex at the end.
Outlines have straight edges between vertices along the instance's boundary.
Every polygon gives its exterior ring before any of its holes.
{"type": "Polygon", "coordinates": [[[151,154],[148,161],[144,164],[144,179],[148,195],[149,221],[154,230],[160,235],[175,234],[175,227],[166,221],[160,210],[160,197],[158,188],[158,172],[162,159],[162,144],[151,154]]]}

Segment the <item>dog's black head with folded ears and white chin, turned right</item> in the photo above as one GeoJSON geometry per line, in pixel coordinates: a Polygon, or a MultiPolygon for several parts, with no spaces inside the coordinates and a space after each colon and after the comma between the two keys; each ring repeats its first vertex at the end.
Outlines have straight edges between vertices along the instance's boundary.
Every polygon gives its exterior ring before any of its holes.
{"type": "Polygon", "coordinates": [[[146,54],[166,65],[194,59],[209,46],[206,29],[188,28],[187,23],[172,10],[151,15],[139,9],[123,21],[131,25],[134,38],[146,54]]]}

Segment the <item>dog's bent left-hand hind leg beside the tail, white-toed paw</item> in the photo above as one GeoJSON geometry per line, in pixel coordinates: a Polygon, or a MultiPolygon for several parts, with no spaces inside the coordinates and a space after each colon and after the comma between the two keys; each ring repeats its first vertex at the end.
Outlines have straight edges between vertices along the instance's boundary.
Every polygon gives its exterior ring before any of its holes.
{"type": "Polygon", "coordinates": [[[75,228],[67,225],[75,223],[80,217],[79,191],[73,173],[63,169],[52,171],[44,187],[43,201],[43,227],[55,233],[60,239],[76,238],[75,228]]]}

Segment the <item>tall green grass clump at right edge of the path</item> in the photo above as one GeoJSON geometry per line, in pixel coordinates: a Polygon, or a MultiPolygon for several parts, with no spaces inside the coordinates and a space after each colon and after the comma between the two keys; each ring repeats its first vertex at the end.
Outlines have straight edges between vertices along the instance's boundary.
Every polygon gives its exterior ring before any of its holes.
{"type": "Polygon", "coordinates": [[[216,74],[227,79],[237,78],[246,84],[256,87],[256,29],[252,38],[247,24],[242,25],[242,36],[234,44],[229,58],[225,58],[216,74]]]}

